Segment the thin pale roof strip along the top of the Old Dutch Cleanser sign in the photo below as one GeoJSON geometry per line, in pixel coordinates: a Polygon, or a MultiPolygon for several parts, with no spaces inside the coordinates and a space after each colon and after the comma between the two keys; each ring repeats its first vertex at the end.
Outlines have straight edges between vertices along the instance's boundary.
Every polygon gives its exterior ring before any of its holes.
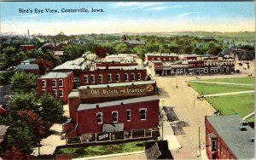
{"type": "Polygon", "coordinates": [[[140,84],[153,84],[155,81],[142,81],[142,82],[133,82],[133,83],[109,83],[109,84],[96,84],[96,85],[86,85],[86,86],[80,86],[79,89],[99,89],[99,88],[107,88],[107,87],[119,87],[119,86],[131,86],[134,85],[140,85],[140,84]]]}

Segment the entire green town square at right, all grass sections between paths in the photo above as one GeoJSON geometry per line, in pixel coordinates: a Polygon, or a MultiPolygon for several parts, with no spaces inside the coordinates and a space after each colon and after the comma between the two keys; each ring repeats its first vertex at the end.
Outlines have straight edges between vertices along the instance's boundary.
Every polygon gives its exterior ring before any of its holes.
{"type": "MultiPolygon", "coordinates": [[[[223,82],[223,83],[254,83],[254,77],[228,78],[228,79],[211,79],[208,82],[223,82]]],[[[239,92],[253,90],[254,86],[243,85],[225,85],[211,83],[195,83],[189,82],[190,86],[195,89],[198,94],[219,94],[229,92],[239,92]]],[[[254,94],[233,94],[216,97],[206,97],[206,100],[218,111],[221,115],[234,115],[245,117],[254,111],[254,94]]],[[[254,122],[254,117],[247,118],[247,122],[254,122]]]]}

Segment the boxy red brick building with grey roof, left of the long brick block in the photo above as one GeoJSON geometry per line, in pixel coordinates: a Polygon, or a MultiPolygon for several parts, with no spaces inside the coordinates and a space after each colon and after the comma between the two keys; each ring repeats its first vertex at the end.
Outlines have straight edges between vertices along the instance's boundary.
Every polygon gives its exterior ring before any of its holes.
{"type": "Polygon", "coordinates": [[[73,72],[49,72],[38,77],[38,96],[53,94],[67,102],[68,94],[73,90],[73,72]]]}

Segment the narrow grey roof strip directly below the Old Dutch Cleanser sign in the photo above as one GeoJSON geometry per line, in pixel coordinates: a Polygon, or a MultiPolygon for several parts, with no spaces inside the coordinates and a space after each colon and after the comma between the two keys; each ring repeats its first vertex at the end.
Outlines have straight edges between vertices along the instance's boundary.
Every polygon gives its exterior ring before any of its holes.
{"type": "Polygon", "coordinates": [[[122,104],[132,104],[132,103],[139,103],[144,101],[153,101],[153,100],[159,100],[157,95],[151,95],[146,97],[139,97],[139,98],[133,98],[133,99],[127,99],[127,100],[116,100],[116,101],[109,101],[109,102],[103,102],[103,103],[96,103],[96,104],[80,104],[78,111],[84,111],[84,110],[90,110],[95,109],[97,106],[99,108],[108,107],[108,106],[121,106],[122,104]]]}

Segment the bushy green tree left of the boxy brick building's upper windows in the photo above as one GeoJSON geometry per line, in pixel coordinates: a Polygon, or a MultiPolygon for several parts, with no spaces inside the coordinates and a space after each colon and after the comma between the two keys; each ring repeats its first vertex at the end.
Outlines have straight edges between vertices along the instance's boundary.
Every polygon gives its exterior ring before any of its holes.
{"type": "Polygon", "coordinates": [[[37,87],[38,76],[26,73],[25,71],[16,71],[11,77],[11,84],[16,92],[31,92],[37,87]]]}

